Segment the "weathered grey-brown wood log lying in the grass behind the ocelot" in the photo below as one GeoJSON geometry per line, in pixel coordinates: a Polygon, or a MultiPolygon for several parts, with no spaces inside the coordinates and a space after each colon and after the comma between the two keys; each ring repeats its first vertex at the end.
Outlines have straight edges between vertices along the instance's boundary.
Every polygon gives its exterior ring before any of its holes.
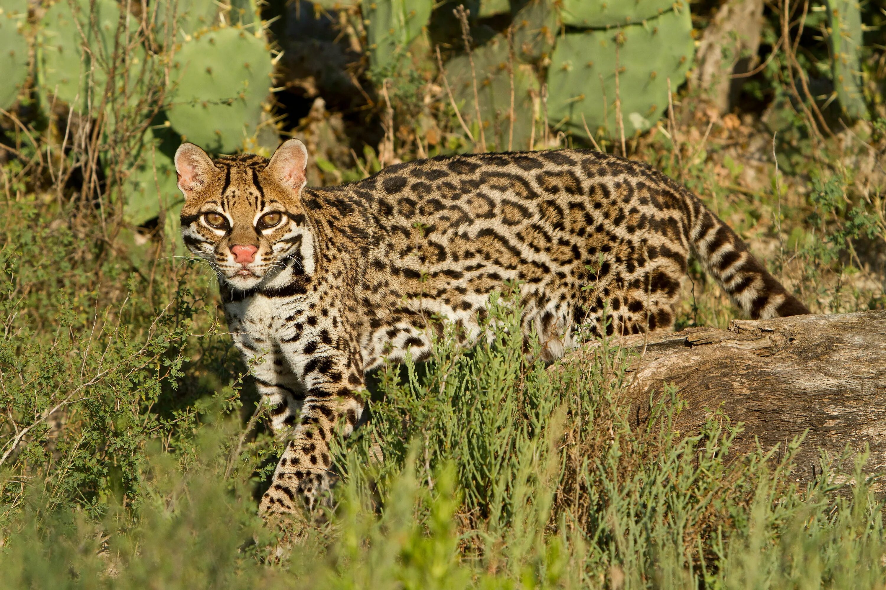
{"type": "Polygon", "coordinates": [[[650,393],[670,383],[687,402],[676,419],[680,433],[698,432],[718,408],[743,423],[730,455],[757,441],[783,452],[808,429],[795,462],[798,481],[820,474],[819,449],[839,456],[847,445],[869,446],[867,471],[886,469],[886,310],[734,320],[727,330],[690,328],[621,343],[640,353],[620,400],[638,420],[649,416],[650,393]]]}

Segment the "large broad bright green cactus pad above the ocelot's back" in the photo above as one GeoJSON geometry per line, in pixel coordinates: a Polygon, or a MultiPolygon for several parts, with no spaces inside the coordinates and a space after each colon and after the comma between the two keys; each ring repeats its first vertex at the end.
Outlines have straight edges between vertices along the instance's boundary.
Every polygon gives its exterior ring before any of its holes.
{"type": "Polygon", "coordinates": [[[618,134],[618,96],[626,134],[653,126],[667,108],[672,89],[686,80],[695,44],[688,6],[642,24],[565,34],[557,40],[548,68],[548,113],[574,133],[603,129],[618,134]],[[582,119],[584,115],[584,120],[582,119]]]}

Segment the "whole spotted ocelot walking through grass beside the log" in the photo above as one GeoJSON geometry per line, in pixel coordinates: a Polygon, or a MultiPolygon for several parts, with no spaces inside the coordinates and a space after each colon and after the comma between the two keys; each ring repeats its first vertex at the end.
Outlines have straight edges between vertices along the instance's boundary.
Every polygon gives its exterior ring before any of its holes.
{"type": "Polygon", "coordinates": [[[751,318],[809,313],[696,195],[638,162],[578,149],[434,157],[332,188],[306,188],[306,165],[298,140],[269,161],[211,160],[190,143],[175,154],[184,242],[219,273],[274,426],[299,417],[264,513],[312,506],[330,486],[330,437],[357,424],[364,372],[427,356],[432,317],[477,341],[505,281],[548,359],[578,323],[670,328],[690,252],[751,318]]]}

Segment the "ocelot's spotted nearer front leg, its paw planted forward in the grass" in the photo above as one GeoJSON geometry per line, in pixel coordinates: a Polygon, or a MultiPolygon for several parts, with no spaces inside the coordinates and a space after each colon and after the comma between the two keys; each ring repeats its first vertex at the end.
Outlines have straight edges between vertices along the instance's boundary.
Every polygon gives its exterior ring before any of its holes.
{"type": "Polygon", "coordinates": [[[304,403],[295,435],[261,498],[263,515],[291,513],[299,510],[299,504],[309,510],[315,507],[318,496],[329,492],[334,479],[332,436],[339,427],[345,436],[354,432],[363,412],[365,387],[359,354],[312,340],[300,346],[300,354],[290,361],[306,389],[304,403]]]}

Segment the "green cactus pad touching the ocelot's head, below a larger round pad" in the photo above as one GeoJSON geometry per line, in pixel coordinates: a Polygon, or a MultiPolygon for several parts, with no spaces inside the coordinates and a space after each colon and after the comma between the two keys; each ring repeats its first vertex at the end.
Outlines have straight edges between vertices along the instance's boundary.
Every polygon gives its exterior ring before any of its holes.
{"type": "Polygon", "coordinates": [[[169,211],[183,200],[177,187],[175,164],[165,153],[168,150],[160,149],[162,134],[158,135],[150,128],[145,132],[141,148],[133,156],[138,164],[128,171],[123,214],[134,226],[157,217],[161,204],[163,210],[169,211]]]}

